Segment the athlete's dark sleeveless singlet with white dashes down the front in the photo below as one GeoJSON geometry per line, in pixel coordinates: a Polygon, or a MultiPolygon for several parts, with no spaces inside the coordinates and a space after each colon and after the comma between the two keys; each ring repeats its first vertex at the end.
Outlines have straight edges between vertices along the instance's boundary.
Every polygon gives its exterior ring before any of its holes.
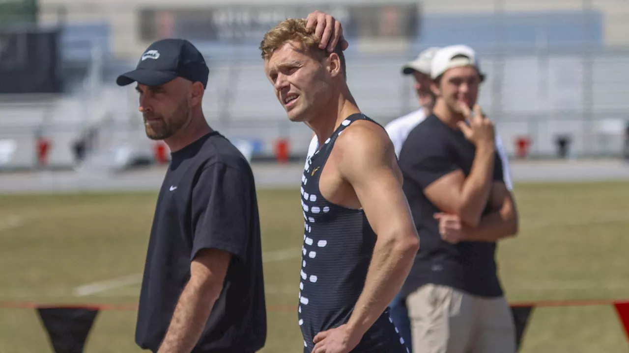
{"type": "MultiPolygon", "coordinates": [[[[337,137],[357,120],[377,124],[363,114],[347,117],[325,144],[306,160],[301,178],[305,231],[298,316],[304,353],[310,353],[315,347],[316,334],[347,323],[362,293],[376,244],[376,234],[363,210],[332,204],[319,191],[319,176],[337,137]]],[[[352,352],[407,352],[404,340],[389,316],[389,308],[367,330],[352,352]]]]}

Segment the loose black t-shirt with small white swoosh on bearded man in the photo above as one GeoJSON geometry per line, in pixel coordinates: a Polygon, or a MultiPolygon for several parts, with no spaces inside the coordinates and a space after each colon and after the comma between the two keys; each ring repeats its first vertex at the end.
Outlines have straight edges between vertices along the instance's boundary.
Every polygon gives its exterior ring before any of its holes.
{"type": "Polygon", "coordinates": [[[216,131],[172,153],[148,243],[140,347],[159,349],[191,261],[209,248],[231,253],[231,263],[192,352],[255,352],[267,333],[255,183],[247,160],[216,131]]]}

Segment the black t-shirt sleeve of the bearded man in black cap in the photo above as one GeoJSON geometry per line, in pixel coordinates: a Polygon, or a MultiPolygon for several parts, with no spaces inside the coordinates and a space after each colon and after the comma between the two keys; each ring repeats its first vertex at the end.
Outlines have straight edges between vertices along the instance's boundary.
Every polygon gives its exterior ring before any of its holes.
{"type": "Polygon", "coordinates": [[[192,190],[191,260],[201,249],[219,249],[245,261],[252,188],[247,170],[217,162],[201,171],[192,190]]]}

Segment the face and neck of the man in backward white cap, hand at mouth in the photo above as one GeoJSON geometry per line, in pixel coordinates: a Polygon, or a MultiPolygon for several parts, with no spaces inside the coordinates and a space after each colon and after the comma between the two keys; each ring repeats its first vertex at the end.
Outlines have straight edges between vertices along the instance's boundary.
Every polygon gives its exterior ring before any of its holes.
{"type": "Polygon", "coordinates": [[[458,121],[465,120],[464,112],[476,104],[481,76],[474,67],[455,67],[443,73],[440,82],[433,82],[431,88],[438,99],[434,112],[448,125],[455,127],[458,121]],[[467,106],[467,109],[462,106],[467,106]]]}

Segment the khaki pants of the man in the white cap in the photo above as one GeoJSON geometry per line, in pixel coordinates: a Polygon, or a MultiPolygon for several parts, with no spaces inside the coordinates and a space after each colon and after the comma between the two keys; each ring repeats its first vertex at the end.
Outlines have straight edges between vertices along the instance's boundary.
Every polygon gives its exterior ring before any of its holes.
{"type": "Polygon", "coordinates": [[[406,298],[406,306],[413,353],[515,353],[515,326],[504,297],[424,285],[406,298]]]}

